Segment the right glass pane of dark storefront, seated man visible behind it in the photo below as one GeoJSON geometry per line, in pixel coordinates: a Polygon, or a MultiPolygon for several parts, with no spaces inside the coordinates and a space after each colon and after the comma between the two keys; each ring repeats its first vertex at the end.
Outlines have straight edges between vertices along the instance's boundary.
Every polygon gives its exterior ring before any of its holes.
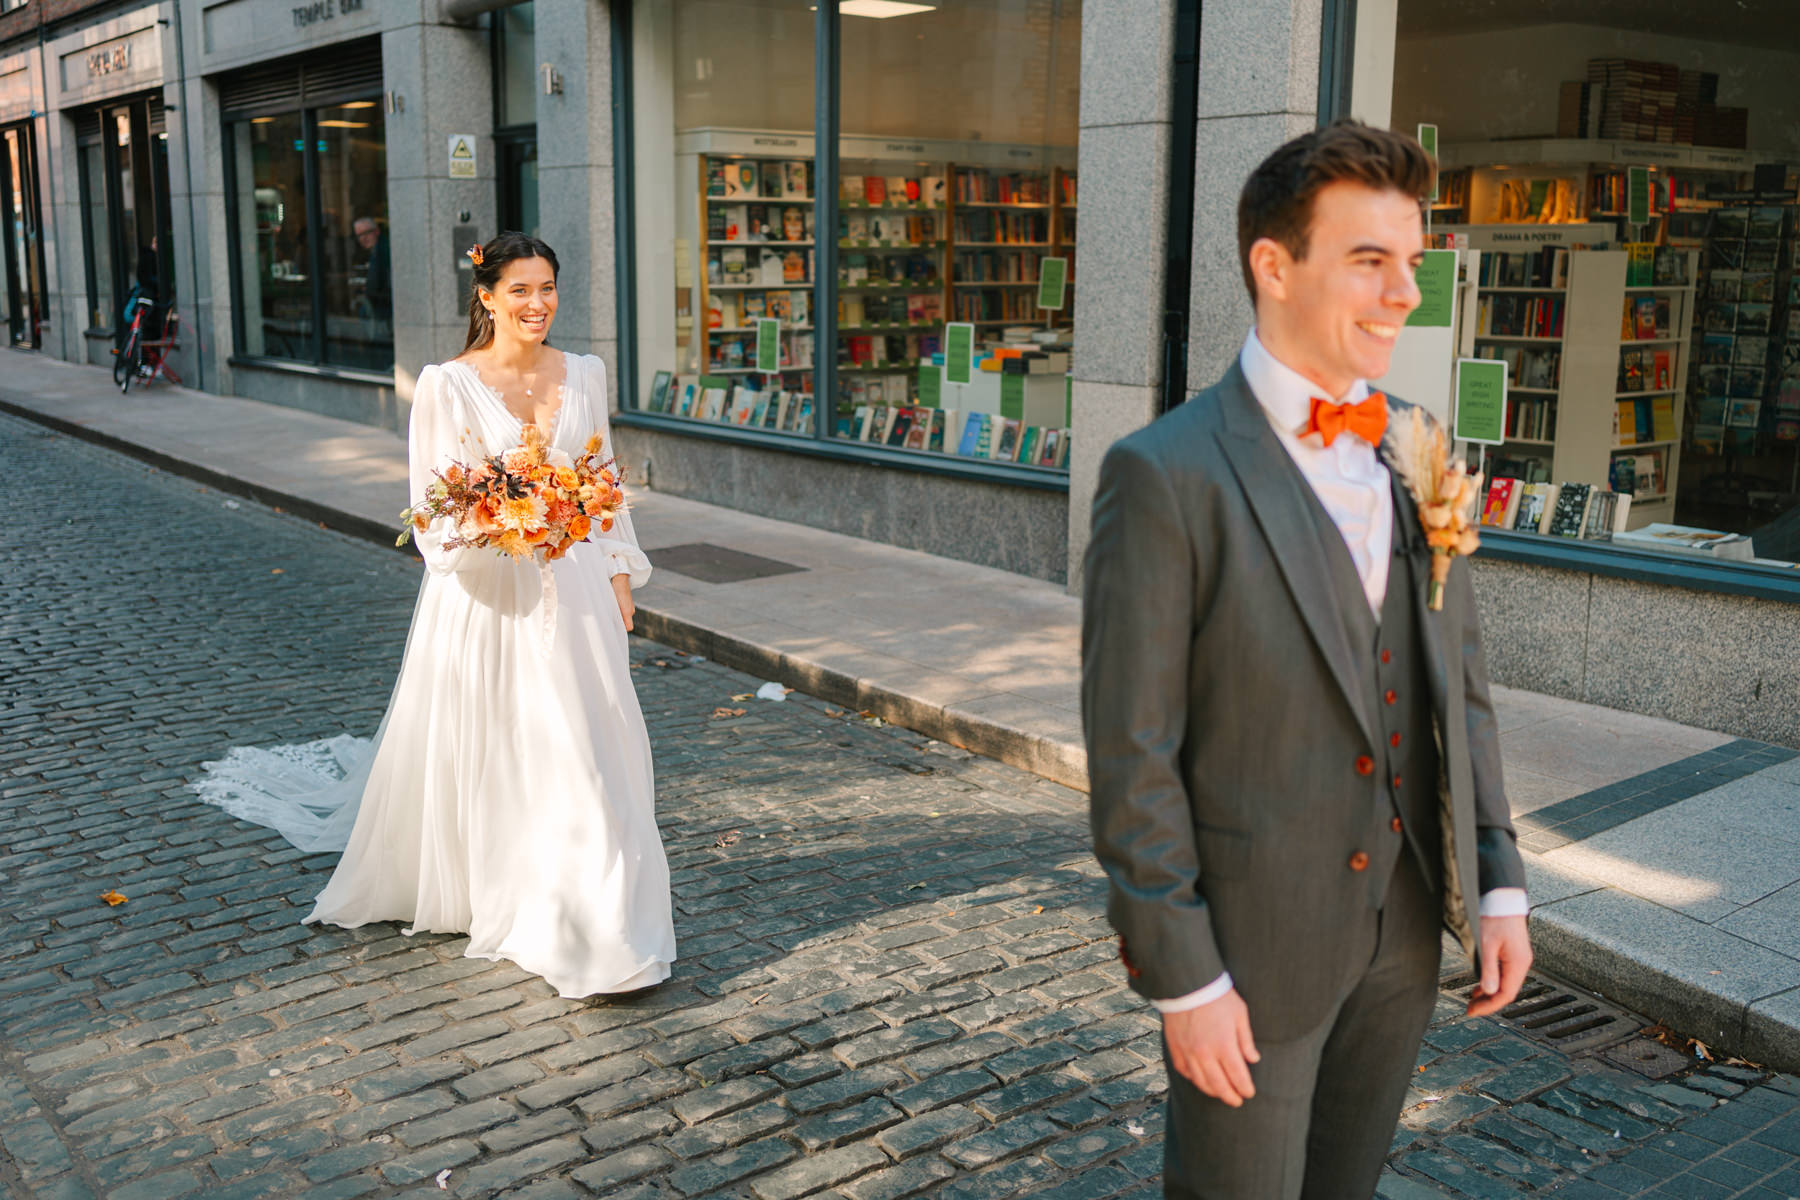
{"type": "Polygon", "coordinates": [[[387,139],[378,101],[317,110],[324,360],[394,365],[394,266],[387,239],[387,139]]]}

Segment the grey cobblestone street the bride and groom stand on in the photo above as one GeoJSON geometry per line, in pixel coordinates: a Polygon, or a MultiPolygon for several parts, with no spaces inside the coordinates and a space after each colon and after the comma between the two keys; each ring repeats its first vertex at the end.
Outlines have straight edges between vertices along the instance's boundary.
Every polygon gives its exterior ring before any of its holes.
{"type": "MultiPolygon", "coordinates": [[[[418,565],[4,416],[0,462],[0,1195],[1161,1195],[1080,793],[634,639],[668,984],[306,928],[335,856],[185,781],[371,732],[418,565]]],[[[1800,1196],[1795,1078],[1553,986],[1463,1020],[1467,982],[1388,1200],[1800,1196]]]]}

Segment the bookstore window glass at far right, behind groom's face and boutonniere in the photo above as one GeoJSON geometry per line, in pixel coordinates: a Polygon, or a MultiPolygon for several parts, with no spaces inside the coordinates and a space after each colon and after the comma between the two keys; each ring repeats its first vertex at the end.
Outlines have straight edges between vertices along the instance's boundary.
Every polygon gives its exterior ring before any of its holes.
{"type": "Polygon", "coordinates": [[[1400,0],[1391,126],[1436,126],[1456,353],[1507,363],[1481,520],[1800,561],[1800,13],[1400,0]]]}

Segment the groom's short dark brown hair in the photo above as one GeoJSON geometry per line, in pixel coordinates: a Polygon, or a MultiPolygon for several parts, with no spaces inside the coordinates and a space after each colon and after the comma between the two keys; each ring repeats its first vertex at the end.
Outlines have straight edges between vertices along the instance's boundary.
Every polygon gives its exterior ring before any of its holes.
{"type": "Polygon", "coordinates": [[[1424,200],[1435,173],[1436,162],[1417,139],[1361,121],[1336,121],[1301,133],[1264,158],[1238,194],[1238,266],[1251,304],[1256,302],[1256,279],[1249,270],[1249,248],[1273,237],[1296,259],[1307,257],[1312,201],[1319,191],[1348,180],[1424,200]]]}

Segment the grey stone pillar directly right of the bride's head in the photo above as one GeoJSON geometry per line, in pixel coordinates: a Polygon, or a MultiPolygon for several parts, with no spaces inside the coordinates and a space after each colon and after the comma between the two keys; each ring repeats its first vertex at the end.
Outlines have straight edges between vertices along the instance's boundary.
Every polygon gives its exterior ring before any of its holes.
{"type": "MultiPolygon", "coordinates": [[[[619,0],[628,2],[628,0],[619,0]]],[[[562,263],[553,340],[607,362],[617,407],[617,270],[614,252],[612,14],[605,0],[538,0],[538,63],[562,92],[538,81],[538,214],[562,263]]]]}

